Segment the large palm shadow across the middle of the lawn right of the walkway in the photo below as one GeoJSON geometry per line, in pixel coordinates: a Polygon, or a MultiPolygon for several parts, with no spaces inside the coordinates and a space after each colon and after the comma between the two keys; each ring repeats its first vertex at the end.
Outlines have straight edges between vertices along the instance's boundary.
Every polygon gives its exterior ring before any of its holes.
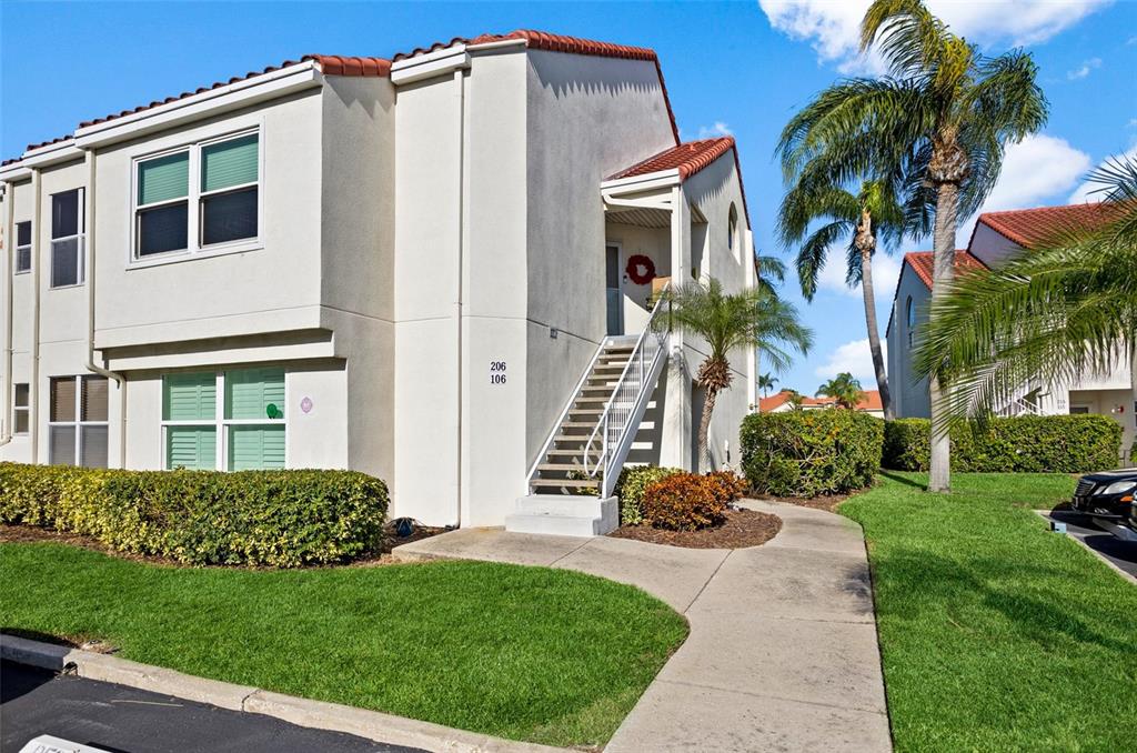
{"type": "MultiPolygon", "coordinates": [[[[1090,643],[1114,652],[1128,654],[1132,645],[1090,627],[1093,623],[1115,621],[1117,614],[1090,606],[1086,602],[1052,594],[1051,598],[1027,595],[1022,587],[1032,586],[1039,590],[1046,579],[1071,579],[1072,573],[1062,568],[1016,563],[997,557],[977,557],[965,564],[930,554],[927,549],[904,549],[896,554],[880,554],[875,557],[874,570],[887,573],[894,588],[903,588],[914,597],[899,599],[877,599],[879,618],[927,620],[931,612],[946,612],[946,621],[963,632],[982,637],[985,626],[960,623],[952,613],[965,612],[973,605],[997,612],[1015,626],[1015,632],[1023,639],[1040,646],[1053,646],[1062,639],[1090,643]],[[897,584],[897,581],[907,581],[897,584]],[[994,584],[994,585],[993,585],[994,584]],[[1002,586],[999,586],[1002,584],[1002,586]]],[[[880,584],[878,584],[880,588],[880,584]]]]}

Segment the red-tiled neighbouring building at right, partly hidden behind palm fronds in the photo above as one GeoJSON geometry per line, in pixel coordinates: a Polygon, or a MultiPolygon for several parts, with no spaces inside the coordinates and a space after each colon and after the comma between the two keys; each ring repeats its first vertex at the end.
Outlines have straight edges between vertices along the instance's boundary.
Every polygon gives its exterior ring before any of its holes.
{"type": "MultiPolygon", "coordinates": [[[[1109,209],[1102,205],[1080,204],[982,214],[968,248],[956,251],[956,273],[996,267],[1004,259],[1034,248],[1063,227],[1102,222],[1105,212],[1109,209]]],[[[905,254],[887,329],[889,389],[899,417],[931,415],[928,380],[916,380],[912,372],[912,346],[927,322],[931,283],[931,251],[905,254]]],[[[1039,374],[1023,384],[999,413],[1107,415],[1123,429],[1122,449],[1128,452],[1134,441],[1134,413],[1137,409],[1134,398],[1130,366],[1119,354],[1109,373],[1084,374],[1074,383],[1053,382],[1047,375],[1039,374]]]]}

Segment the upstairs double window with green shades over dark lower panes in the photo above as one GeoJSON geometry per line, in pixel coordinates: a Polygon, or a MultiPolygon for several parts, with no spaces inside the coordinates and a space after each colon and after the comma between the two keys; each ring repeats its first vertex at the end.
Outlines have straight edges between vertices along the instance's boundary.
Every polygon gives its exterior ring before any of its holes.
{"type": "Polygon", "coordinates": [[[133,258],[255,241],[259,146],[259,133],[243,133],[136,160],[133,258]]]}

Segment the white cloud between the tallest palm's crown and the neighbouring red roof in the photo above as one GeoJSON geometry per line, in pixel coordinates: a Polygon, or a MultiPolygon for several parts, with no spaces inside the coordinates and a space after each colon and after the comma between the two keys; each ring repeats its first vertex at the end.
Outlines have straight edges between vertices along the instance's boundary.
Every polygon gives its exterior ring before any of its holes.
{"type": "MultiPolygon", "coordinates": [[[[984,202],[984,212],[1024,209],[1053,204],[1056,197],[1073,189],[1092,165],[1089,155],[1064,139],[1048,135],[1027,136],[1006,148],[998,183],[984,202]]],[[[971,238],[974,217],[956,233],[957,246],[971,238]]]]}

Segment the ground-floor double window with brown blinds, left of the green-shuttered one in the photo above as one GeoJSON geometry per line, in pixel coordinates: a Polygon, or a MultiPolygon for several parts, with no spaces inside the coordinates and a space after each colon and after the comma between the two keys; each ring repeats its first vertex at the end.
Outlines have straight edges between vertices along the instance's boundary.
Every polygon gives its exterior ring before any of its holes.
{"type": "Polygon", "coordinates": [[[107,467],[106,378],[52,376],[50,391],[48,462],[107,467]]]}

